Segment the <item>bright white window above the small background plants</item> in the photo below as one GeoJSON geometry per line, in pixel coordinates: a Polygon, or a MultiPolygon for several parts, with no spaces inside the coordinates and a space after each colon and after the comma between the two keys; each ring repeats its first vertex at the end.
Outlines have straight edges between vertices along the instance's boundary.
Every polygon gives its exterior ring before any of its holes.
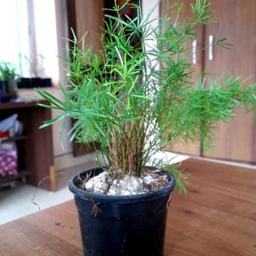
{"type": "Polygon", "coordinates": [[[0,0],[0,61],[14,63],[22,77],[58,81],[56,19],[53,0],[0,0]]]}

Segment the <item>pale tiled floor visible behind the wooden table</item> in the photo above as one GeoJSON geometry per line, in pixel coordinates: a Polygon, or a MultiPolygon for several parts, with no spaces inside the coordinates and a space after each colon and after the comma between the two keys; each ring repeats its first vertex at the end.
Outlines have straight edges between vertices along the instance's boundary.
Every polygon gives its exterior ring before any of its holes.
{"type": "MultiPolygon", "coordinates": [[[[187,158],[186,156],[171,153],[167,154],[167,157],[172,162],[178,162],[187,158]]],[[[31,185],[23,184],[17,185],[14,189],[1,191],[0,224],[38,212],[38,206],[43,210],[73,199],[72,193],[67,188],[68,177],[90,166],[94,166],[94,164],[87,163],[85,166],[76,166],[66,170],[63,175],[59,175],[56,178],[56,192],[37,189],[31,185]],[[32,203],[32,200],[38,206],[32,203]]]]}

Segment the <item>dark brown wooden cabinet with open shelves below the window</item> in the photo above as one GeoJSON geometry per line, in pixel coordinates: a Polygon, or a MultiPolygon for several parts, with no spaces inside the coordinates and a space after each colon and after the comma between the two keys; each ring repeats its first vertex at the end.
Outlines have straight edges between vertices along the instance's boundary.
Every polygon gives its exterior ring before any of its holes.
{"type": "Polygon", "coordinates": [[[40,188],[53,190],[52,129],[51,126],[38,129],[44,120],[51,118],[50,109],[39,108],[38,102],[0,103],[0,119],[4,119],[14,113],[18,114],[18,119],[24,129],[22,137],[9,139],[9,141],[13,141],[17,145],[19,174],[26,172],[27,183],[34,186],[38,186],[38,183],[44,179],[40,184],[40,188]]]}

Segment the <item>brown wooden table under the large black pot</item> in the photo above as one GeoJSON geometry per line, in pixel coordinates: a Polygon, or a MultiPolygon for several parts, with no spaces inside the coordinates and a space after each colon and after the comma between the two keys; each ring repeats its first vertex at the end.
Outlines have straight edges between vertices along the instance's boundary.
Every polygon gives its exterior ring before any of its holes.
{"type": "MultiPolygon", "coordinates": [[[[165,256],[255,256],[256,170],[204,160],[182,167],[189,194],[172,196],[165,256]]],[[[82,255],[73,201],[0,226],[0,255],[82,255]]]]}

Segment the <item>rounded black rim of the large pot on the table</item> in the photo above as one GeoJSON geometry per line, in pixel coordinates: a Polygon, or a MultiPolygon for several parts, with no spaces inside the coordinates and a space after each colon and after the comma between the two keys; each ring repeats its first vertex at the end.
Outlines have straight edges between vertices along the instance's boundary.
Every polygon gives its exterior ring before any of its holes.
{"type": "MultiPolygon", "coordinates": [[[[148,166],[147,166],[148,167],[148,166]]],[[[151,170],[155,170],[157,168],[154,167],[148,167],[151,170]]],[[[75,174],[73,177],[71,177],[68,180],[68,187],[71,192],[75,196],[78,196],[80,198],[84,198],[84,200],[93,200],[93,201],[101,201],[101,202],[118,202],[118,203],[129,203],[129,202],[134,202],[134,201],[151,201],[154,199],[158,199],[160,197],[169,195],[172,190],[175,187],[176,184],[176,178],[172,175],[170,172],[166,172],[165,170],[161,170],[160,174],[166,174],[167,177],[169,178],[169,183],[158,190],[154,191],[149,191],[147,193],[143,194],[138,194],[138,195],[103,195],[103,194],[96,194],[93,192],[85,191],[83,189],[79,189],[75,184],[74,180],[79,176],[79,175],[84,175],[86,172],[101,172],[103,170],[102,167],[96,167],[96,168],[90,168],[88,170],[79,172],[75,174]]]]}

